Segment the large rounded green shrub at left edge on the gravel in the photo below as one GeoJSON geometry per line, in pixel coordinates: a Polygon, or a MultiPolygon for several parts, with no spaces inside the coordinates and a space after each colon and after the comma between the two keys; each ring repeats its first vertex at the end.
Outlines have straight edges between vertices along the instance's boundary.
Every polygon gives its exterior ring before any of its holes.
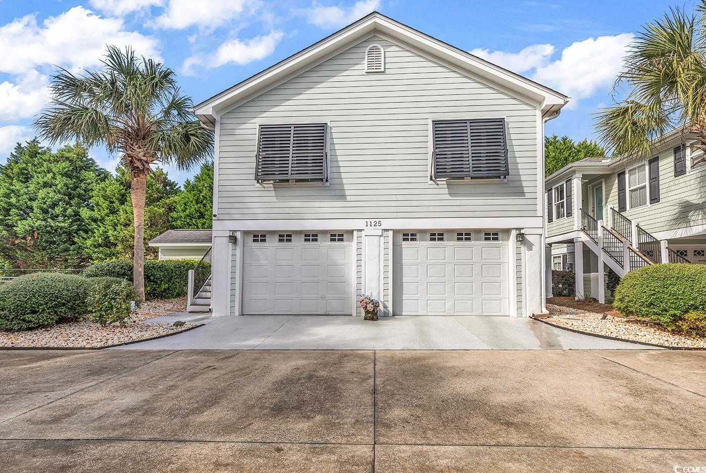
{"type": "Polygon", "coordinates": [[[0,329],[31,330],[71,321],[87,313],[85,277],[34,273],[0,287],[0,329]]]}

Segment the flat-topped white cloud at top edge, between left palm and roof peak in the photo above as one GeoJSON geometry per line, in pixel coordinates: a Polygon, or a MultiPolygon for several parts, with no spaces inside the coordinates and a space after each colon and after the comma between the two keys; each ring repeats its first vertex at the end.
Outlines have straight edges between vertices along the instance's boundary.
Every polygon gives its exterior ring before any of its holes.
{"type": "Polygon", "coordinates": [[[217,28],[240,16],[246,8],[256,6],[256,0],[169,0],[164,13],[155,18],[152,25],[174,30],[193,25],[217,28]]]}

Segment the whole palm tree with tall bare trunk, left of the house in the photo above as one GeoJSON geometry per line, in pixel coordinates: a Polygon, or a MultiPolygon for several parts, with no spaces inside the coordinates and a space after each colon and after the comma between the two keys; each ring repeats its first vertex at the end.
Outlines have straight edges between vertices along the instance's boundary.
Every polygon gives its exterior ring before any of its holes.
{"type": "Polygon", "coordinates": [[[52,101],[36,121],[49,143],[80,141],[118,152],[131,176],[135,243],[133,282],[145,300],[145,192],[150,165],[188,169],[213,152],[213,133],[191,113],[174,71],[132,49],[108,47],[102,70],[83,75],[61,68],[52,77],[52,101]]]}

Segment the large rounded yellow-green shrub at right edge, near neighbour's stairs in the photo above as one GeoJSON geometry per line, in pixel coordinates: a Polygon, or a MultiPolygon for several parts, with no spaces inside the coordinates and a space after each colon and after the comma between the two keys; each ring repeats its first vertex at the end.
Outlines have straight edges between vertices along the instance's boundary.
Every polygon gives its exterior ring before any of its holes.
{"type": "Polygon", "coordinates": [[[630,271],[616,288],[614,306],[626,316],[669,326],[686,313],[706,311],[706,265],[650,265],[630,271]]]}

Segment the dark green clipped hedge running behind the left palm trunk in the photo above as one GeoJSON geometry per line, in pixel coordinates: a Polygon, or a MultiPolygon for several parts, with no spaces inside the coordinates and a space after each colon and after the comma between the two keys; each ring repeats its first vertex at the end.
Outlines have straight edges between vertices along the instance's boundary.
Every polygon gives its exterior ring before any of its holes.
{"type": "MultiPolygon", "coordinates": [[[[145,298],[171,299],[186,295],[189,270],[196,267],[195,260],[145,261],[145,298]]],[[[132,281],[133,265],[129,260],[111,260],[95,263],[85,269],[86,277],[119,277],[132,281]]]]}

